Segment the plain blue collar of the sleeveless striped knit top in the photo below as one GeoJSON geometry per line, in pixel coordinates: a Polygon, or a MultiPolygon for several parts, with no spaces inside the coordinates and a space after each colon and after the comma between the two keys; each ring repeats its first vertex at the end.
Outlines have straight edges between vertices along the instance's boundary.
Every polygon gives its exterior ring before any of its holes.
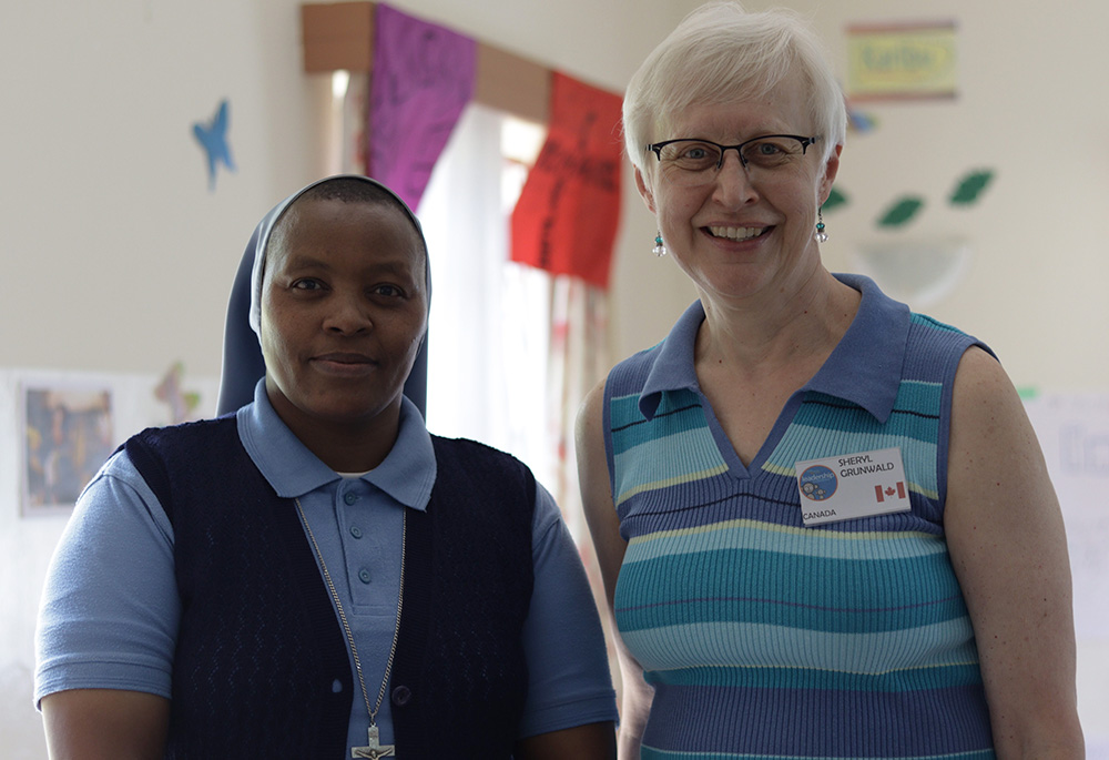
{"type": "MultiPolygon", "coordinates": [[[[908,306],[884,294],[869,277],[835,274],[836,280],[862,294],[858,311],[827,361],[798,393],[812,391],[835,396],[866,409],[879,423],[893,412],[908,342],[908,306]]],[[[700,301],[685,310],[670,335],[654,351],[639,409],[651,419],[664,391],[689,389],[700,394],[693,351],[704,322],[700,301]]]]}

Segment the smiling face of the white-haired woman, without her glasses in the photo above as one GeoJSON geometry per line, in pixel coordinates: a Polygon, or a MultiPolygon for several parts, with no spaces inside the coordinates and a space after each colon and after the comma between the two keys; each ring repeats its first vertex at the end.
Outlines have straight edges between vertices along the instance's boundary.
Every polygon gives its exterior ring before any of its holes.
{"type": "MultiPolygon", "coordinates": [[[[805,89],[793,74],[761,98],[694,105],[672,119],[665,134],[652,139],[699,138],[735,145],[767,134],[812,136],[810,121],[805,89]]],[[[823,149],[817,142],[796,161],[751,172],[735,151],[728,151],[719,172],[694,186],[668,181],[657,162],[648,165],[647,175],[637,171],[667,249],[703,296],[795,292],[820,266],[813,234],[816,213],[838,168],[838,149],[822,163],[823,149]]]]}

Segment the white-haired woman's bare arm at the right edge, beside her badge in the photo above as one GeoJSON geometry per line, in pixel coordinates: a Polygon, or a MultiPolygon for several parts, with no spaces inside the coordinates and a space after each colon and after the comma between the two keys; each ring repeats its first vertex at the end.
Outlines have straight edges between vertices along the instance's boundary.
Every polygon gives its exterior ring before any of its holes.
{"type": "Polygon", "coordinates": [[[955,377],[944,527],[997,756],[1085,757],[1062,515],[1024,405],[979,348],[955,377]]]}

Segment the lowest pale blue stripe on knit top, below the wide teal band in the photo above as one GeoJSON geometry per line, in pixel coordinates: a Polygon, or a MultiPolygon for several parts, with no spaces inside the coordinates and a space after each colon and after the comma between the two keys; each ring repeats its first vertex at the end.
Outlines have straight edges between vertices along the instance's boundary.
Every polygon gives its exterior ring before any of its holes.
{"type": "Polygon", "coordinates": [[[691,662],[747,662],[884,673],[978,661],[968,618],[882,634],[824,634],[735,622],[628,631],[621,626],[620,637],[645,670],[678,670],[691,662]]]}

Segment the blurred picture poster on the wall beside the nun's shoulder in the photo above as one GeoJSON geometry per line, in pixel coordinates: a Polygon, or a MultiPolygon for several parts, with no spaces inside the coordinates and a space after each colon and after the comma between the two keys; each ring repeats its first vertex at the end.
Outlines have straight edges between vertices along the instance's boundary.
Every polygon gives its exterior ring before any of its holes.
{"type": "Polygon", "coordinates": [[[112,391],[30,381],[20,401],[22,514],[69,510],[115,448],[112,391]]]}

